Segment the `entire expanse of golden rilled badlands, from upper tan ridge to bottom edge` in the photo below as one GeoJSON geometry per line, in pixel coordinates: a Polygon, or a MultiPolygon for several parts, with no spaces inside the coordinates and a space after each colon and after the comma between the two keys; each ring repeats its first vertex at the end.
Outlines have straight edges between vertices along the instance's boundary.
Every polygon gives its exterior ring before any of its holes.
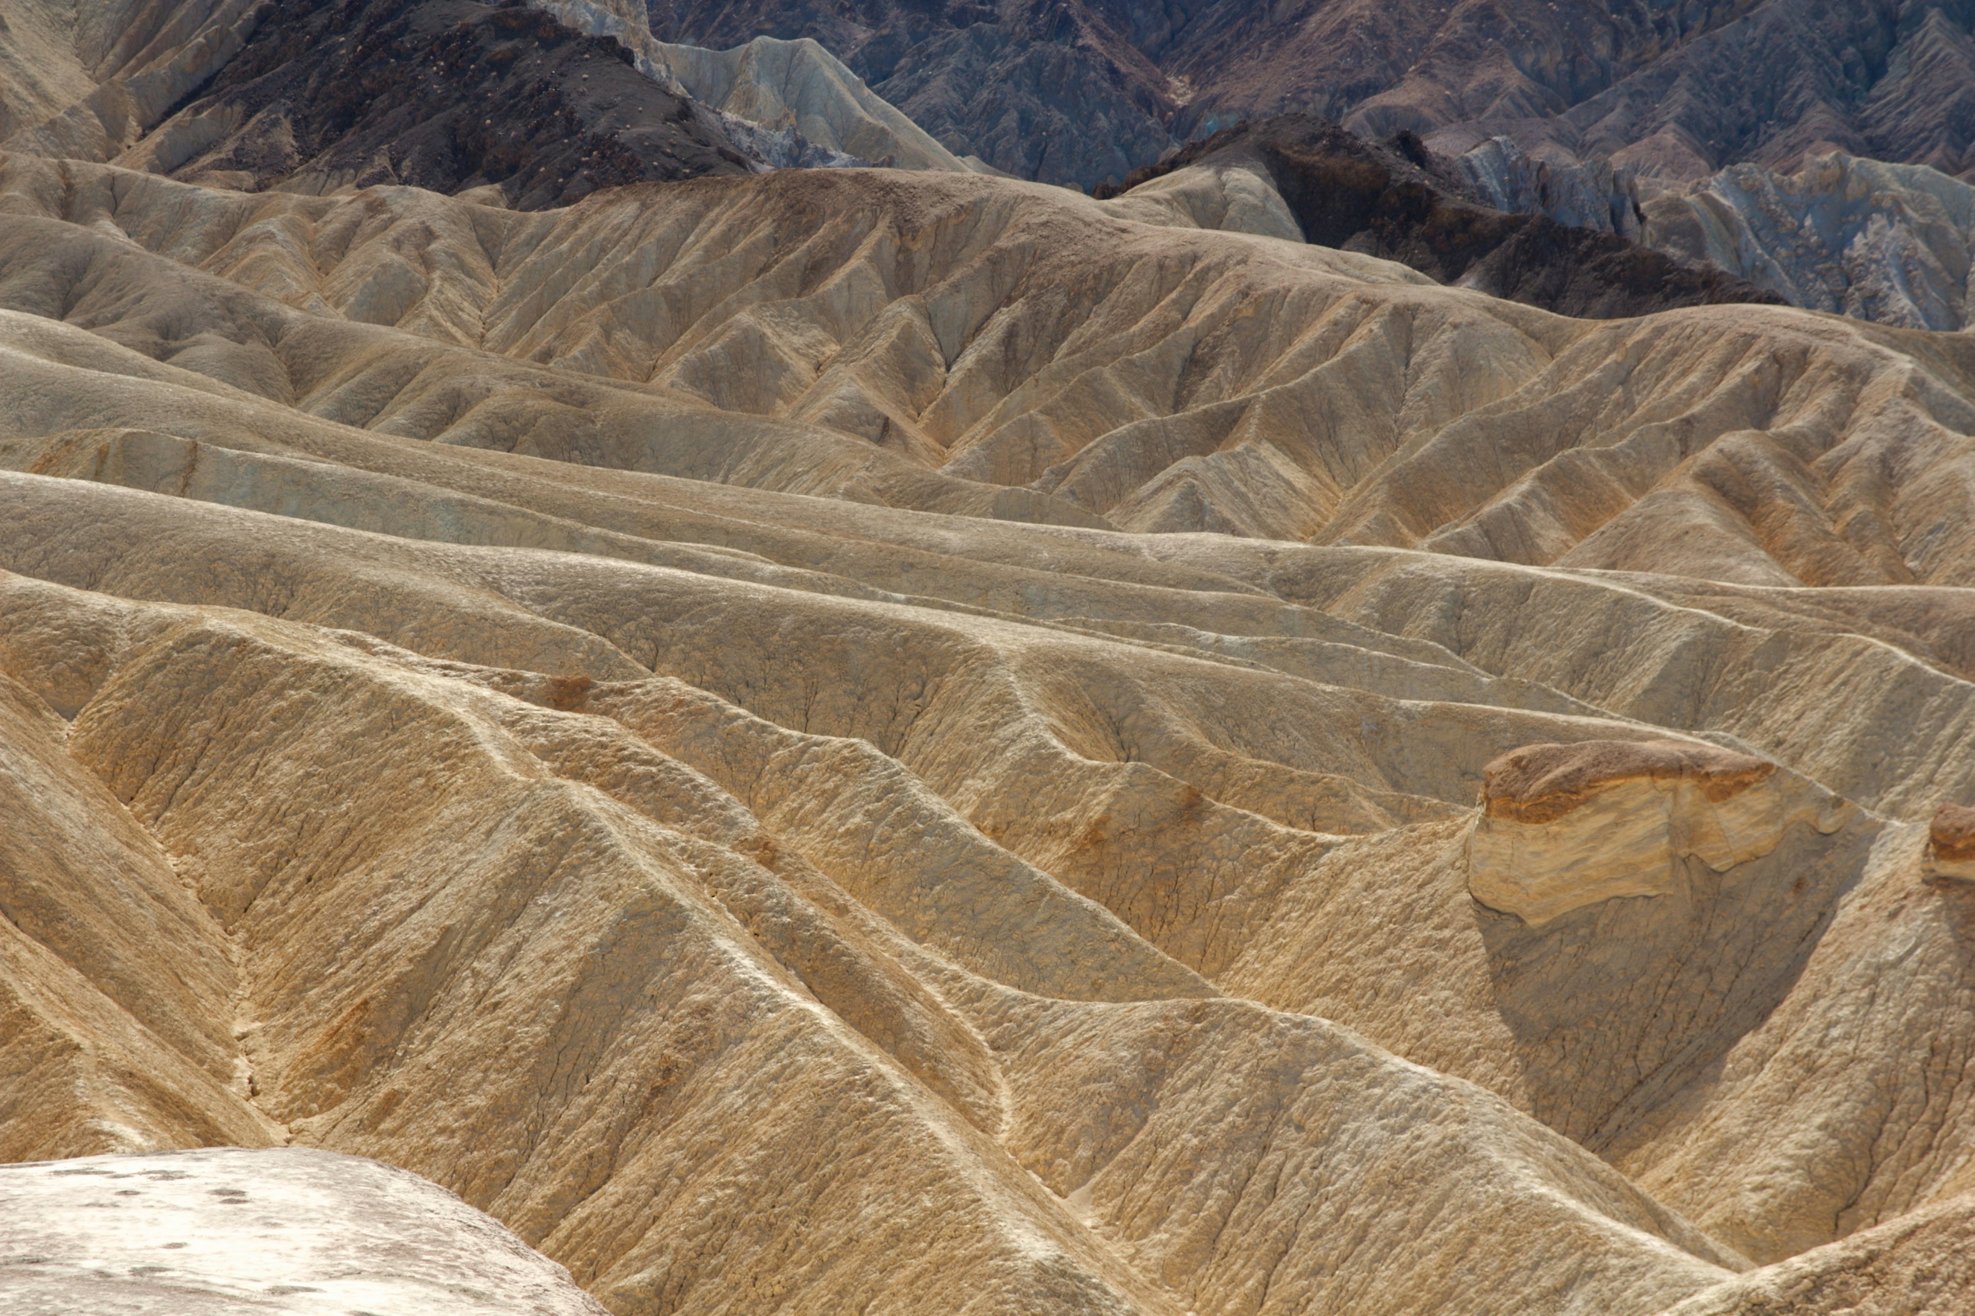
{"type": "Polygon", "coordinates": [[[1965,1310],[1967,339],[960,174],[0,215],[6,1160],[626,1316],[1965,1310]]]}

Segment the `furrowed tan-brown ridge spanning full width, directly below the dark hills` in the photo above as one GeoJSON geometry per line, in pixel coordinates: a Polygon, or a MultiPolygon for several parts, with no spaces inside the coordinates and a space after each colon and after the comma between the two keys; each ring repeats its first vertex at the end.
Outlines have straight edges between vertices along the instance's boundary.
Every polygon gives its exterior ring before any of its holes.
{"type": "MultiPolygon", "coordinates": [[[[4,170],[0,306],[407,438],[1758,586],[1951,584],[1975,552],[1959,337],[1783,308],[1562,320],[950,174],[699,180],[515,215],[4,170]]],[[[12,404],[30,432],[59,422],[32,418],[32,391],[12,404]]]]}

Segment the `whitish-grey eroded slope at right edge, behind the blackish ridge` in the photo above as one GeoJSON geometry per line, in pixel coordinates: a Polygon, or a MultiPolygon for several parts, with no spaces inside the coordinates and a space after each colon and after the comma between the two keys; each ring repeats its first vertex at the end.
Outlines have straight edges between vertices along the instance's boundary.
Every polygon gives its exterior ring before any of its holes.
{"type": "Polygon", "coordinates": [[[1791,306],[1906,329],[1969,326],[1975,187],[1843,152],[1795,174],[1738,164],[1645,205],[1645,241],[1791,306]]]}

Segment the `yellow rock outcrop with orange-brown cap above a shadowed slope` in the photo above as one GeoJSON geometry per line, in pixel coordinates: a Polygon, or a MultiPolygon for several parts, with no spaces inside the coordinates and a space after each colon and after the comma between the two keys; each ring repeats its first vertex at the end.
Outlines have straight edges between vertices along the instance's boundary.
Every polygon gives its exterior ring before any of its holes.
{"type": "Polygon", "coordinates": [[[1525,746],[1483,768],[1467,888],[1531,927],[1625,896],[1685,888],[1681,860],[1762,858],[1783,829],[1837,831],[1851,809],[1776,764],[1681,742],[1525,746]]]}

